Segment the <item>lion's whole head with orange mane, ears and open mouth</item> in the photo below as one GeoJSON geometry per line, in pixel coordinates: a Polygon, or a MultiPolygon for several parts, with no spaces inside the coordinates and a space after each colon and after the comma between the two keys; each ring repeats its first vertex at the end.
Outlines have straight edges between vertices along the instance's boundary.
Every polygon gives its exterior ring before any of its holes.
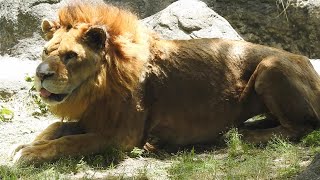
{"type": "Polygon", "coordinates": [[[93,101],[136,90],[150,54],[135,15],[106,4],[70,4],[58,21],[44,20],[42,30],[48,42],[35,85],[56,114],[79,118],[93,101]]]}

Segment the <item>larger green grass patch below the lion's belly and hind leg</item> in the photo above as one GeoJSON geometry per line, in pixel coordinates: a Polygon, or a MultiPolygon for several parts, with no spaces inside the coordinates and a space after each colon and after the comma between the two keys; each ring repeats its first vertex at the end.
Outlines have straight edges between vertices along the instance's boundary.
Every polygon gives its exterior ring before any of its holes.
{"type": "Polygon", "coordinates": [[[291,179],[301,170],[303,144],[274,137],[265,146],[241,140],[236,129],[225,135],[226,148],[197,154],[183,151],[169,169],[172,179],[291,179]]]}

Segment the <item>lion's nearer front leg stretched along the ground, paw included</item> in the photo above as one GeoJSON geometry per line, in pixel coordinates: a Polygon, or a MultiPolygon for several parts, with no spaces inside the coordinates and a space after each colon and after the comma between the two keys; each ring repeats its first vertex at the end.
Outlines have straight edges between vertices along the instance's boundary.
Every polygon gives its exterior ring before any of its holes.
{"type": "Polygon", "coordinates": [[[38,142],[17,151],[13,158],[14,162],[38,164],[63,156],[88,155],[100,152],[107,145],[103,136],[95,133],[68,135],[38,142]]]}

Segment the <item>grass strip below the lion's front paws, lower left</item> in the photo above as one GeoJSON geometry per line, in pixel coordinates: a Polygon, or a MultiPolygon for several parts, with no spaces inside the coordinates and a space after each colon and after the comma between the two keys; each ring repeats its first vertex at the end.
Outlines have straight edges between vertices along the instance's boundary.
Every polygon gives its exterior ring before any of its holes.
{"type": "Polygon", "coordinates": [[[125,154],[110,148],[100,155],[62,158],[54,163],[46,163],[40,167],[0,166],[1,180],[15,179],[70,179],[76,173],[84,173],[82,179],[92,179],[95,172],[103,169],[113,169],[125,158],[125,154]],[[90,172],[90,173],[88,173],[90,172]]]}

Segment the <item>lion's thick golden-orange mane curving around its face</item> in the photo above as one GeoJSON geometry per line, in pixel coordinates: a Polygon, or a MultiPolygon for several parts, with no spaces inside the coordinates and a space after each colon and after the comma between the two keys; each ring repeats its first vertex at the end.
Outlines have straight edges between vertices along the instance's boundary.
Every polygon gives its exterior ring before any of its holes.
{"type": "Polygon", "coordinates": [[[53,106],[51,109],[55,114],[67,119],[79,118],[97,99],[112,98],[115,93],[125,98],[135,93],[143,67],[150,58],[151,38],[136,15],[105,3],[77,2],[59,10],[58,23],[60,28],[70,28],[79,23],[105,26],[109,39],[105,47],[105,66],[100,67],[99,73],[83,84],[69,100],[53,106]]]}

